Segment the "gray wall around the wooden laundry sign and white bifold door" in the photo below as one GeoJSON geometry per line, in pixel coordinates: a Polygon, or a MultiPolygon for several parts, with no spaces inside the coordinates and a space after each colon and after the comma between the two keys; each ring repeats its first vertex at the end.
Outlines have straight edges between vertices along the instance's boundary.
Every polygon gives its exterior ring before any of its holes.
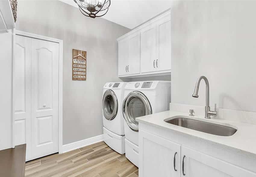
{"type": "Polygon", "coordinates": [[[19,1],[17,14],[18,30],[63,40],[63,144],[102,134],[102,88],[122,81],[116,38],[130,29],[60,1],[19,1]],[[72,49],[87,51],[87,81],[72,81],[72,49]]]}

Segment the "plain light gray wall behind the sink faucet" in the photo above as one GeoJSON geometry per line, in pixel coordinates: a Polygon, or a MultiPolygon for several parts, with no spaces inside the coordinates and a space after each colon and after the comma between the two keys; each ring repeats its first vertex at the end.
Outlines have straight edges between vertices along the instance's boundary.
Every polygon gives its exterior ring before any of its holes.
{"type": "Polygon", "coordinates": [[[175,1],[171,9],[172,102],[256,111],[256,1],[175,1]]]}

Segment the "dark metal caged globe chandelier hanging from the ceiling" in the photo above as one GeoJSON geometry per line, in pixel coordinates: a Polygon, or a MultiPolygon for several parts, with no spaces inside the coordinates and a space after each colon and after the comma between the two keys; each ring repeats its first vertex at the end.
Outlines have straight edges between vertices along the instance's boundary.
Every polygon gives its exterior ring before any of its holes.
{"type": "Polygon", "coordinates": [[[102,17],[108,12],[110,0],[74,0],[86,17],[102,17]]]}

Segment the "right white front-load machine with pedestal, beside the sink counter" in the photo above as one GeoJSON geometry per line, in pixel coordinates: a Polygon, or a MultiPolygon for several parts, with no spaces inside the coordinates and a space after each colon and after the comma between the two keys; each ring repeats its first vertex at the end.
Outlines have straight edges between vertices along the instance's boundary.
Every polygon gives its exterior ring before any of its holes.
{"type": "Polygon", "coordinates": [[[135,118],[169,110],[171,81],[129,82],[124,97],[125,156],[139,166],[139,122],[135,118]]]}

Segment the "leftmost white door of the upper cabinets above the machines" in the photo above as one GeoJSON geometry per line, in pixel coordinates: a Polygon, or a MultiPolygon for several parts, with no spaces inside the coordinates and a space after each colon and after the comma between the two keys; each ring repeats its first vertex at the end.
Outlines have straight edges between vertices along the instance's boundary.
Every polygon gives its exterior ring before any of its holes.
{"type": "Polygon", "coordinates": [[[127,75],[127,61],[129,59],[129,40],[118,41],[118,76],[127,75]]]}

